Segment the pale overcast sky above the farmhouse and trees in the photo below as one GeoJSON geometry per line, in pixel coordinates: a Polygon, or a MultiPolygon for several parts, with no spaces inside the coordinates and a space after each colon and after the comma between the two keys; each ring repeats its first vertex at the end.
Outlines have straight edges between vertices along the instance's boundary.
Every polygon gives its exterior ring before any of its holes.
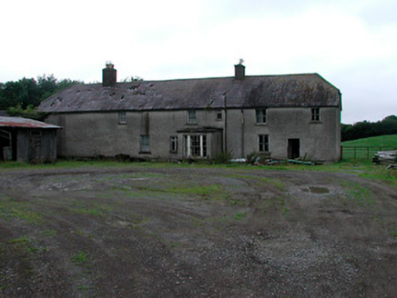
{"type": "Polygon", "coordinates": [[[396,0],[2,0],[0,82],[318,73],[342,122],[397,114],[396,0]]]}

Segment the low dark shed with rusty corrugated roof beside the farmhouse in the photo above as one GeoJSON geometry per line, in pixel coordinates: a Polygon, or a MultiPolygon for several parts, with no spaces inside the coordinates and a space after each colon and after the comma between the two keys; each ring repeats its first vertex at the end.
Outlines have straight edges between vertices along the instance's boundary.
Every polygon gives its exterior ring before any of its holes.
{"type": "Polygon", "coordinates": [[[56,162],[56,131],[59,128],[32,119],[0,116],[0,160],[56,162]]]}

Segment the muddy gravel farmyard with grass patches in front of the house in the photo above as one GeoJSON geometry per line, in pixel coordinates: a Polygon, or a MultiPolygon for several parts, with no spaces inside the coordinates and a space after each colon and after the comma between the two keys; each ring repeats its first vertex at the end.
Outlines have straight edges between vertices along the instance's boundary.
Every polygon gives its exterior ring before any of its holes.
{"type": "Polygon", "coordinates": [[[0,296],[396,293],[396,189],[356,174],[0,172],[0,296]]]}

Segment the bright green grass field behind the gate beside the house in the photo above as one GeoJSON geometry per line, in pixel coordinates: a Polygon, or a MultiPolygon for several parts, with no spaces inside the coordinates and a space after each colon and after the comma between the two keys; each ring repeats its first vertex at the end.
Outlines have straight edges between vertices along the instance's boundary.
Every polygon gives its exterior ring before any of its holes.
{"type": "Polygon", "coordinates": [[[397,148],[397,134],[373,136],[365,139],[342,142],[343,159],[372,159],[378,151],[397,148]]]}

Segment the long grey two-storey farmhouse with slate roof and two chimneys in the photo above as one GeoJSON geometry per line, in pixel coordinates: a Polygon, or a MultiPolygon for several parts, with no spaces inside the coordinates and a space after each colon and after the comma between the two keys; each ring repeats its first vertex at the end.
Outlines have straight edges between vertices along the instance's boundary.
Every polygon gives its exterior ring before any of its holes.
{"type": "Polygon", "coordinates": [[[117,83],[107,64],[102,84],[74,85],[38,110],[63,127],[60,156],[341,157],[341,92],[318,74],[250,76],[239,64],[230,77],[117,83]]]}

